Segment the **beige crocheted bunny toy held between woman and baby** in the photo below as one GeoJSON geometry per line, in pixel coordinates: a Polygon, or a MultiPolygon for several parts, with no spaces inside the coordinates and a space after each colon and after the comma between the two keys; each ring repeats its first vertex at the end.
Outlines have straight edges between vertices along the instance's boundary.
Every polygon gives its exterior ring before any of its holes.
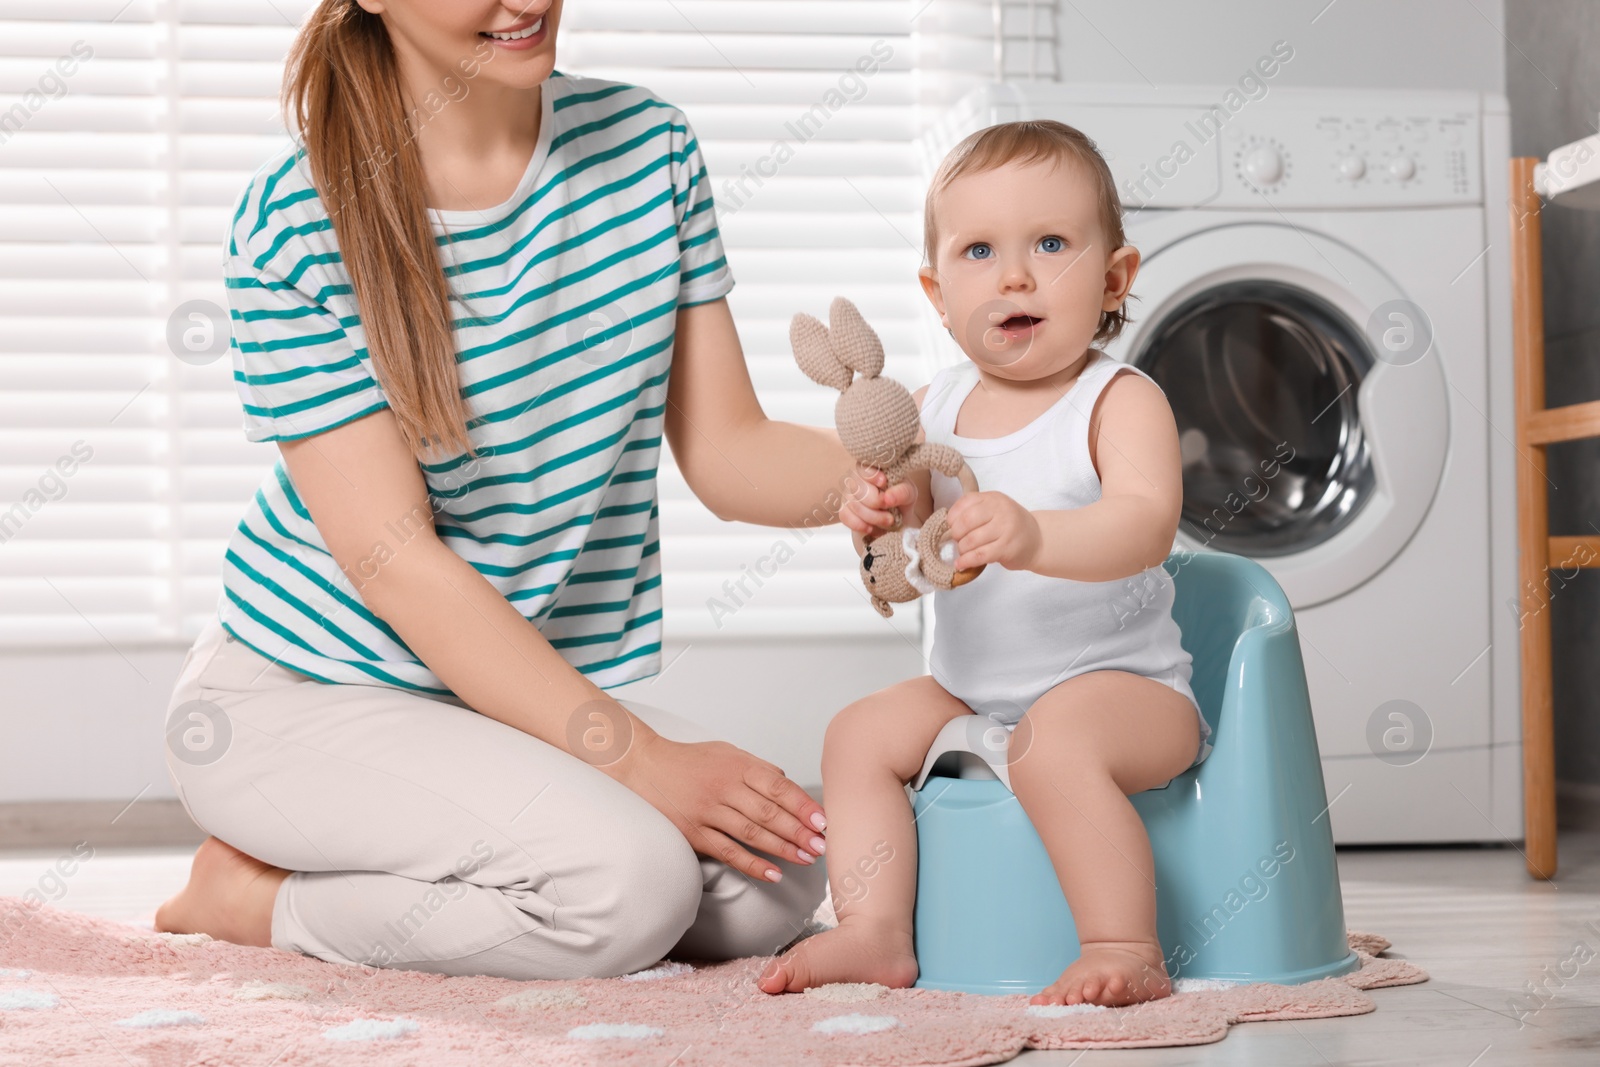
{"type": "MultiPolygon", "coordinates": [[[[838,440],[858,462],[878,467],[888,485],[904,482],[912,470],[938,470],[960,478],[966,493],[978,491],[978,477],[949,445],[917,443],[920,418],[910,392],[883,378],[883,342],[843,296],[827,309],[829,325],[811,315],[789,323],[789,344],[806,378],[838,390],[834,422],[838,440]]],[[[955,542],[949,539],[946,509],[922,528],[902,528],[899,510],[893,530],[866,537],[861,582],[878,614],[894,614],[890,605],[909,603],[934,589],[954,589],[978,577],[982,566],[957,571],[955,542]]]]}

